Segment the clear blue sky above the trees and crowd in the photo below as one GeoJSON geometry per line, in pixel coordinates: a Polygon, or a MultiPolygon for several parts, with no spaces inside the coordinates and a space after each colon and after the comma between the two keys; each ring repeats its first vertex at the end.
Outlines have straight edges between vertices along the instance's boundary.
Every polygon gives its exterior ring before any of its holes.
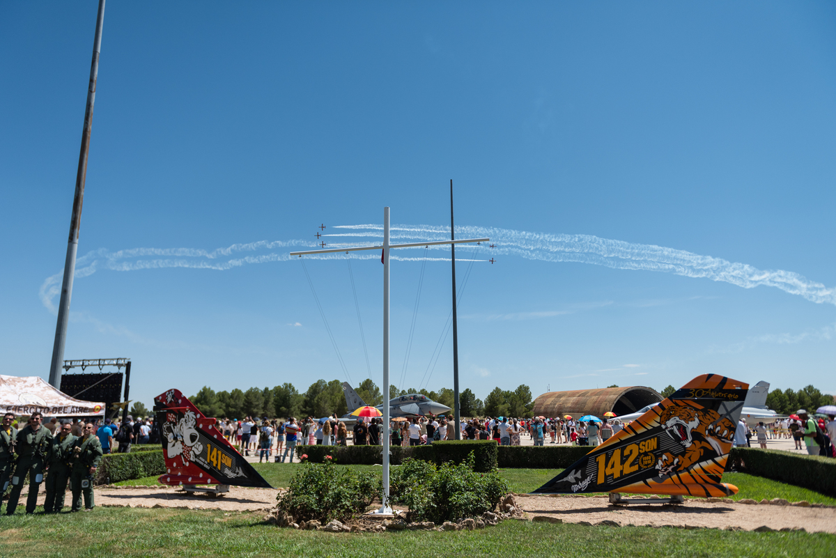
{"type": "MultiPolygon", "coordinates": [[[[95,11],[0,6],[3,374],[48,377],[95,11]]],[[[813,2],[110,3],[65,358],[131,358],[145,404],[344,380],[288,252],[320,223],[374,242],[385,205],[446,234],[453,179],[457,236],[497,243],[456,252],[480,260],[478,397],[709,372],[836,393],[834,29],[813,2]]],[[[399,256],[392,382],[451,387],[449,262],[399,256]]],[[[359,383],[343,260],[306,265],[359,383]]],[[[380,384],[382,266],[352,270],[380,384]]]]}

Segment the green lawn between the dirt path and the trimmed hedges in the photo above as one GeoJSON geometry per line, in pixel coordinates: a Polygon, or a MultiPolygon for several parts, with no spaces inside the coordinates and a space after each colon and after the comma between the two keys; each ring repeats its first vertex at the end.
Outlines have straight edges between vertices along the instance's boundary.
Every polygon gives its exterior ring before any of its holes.
{"type": "MultiPolygon", "coordinates": [[[[290,478],[298,469],[298,464],[283,463],[256,463],[255,469],[276,488],[283,488],[288,485],[290,478]]],[[[335,465],[336,467],[351,467],[359,470],[372,470],[380,474],[380,467],[375,465],[335,465]]],[[[504,478],[512,492],[525,494],[542,486],[543,483],[552,479],[563,469],[501,469],[500,474],[504,478]]],[[[144,479],[126,480],[123,485],[137,484],[158,484],[156,477],[145,477],[144,479]]],[[[791,502],[807,500],[813,504],[836,505],[836,498],[819,494],[813,490],[804,489],[792,484],[783,484],[777,480],[764,479],[752,474],[726,473],[723,475],[723,482],[734,484],[740,491],[732,496],[732,500],[751,498],[752,500],[772,500],[772,498],[783,498],[791,502]]]]}

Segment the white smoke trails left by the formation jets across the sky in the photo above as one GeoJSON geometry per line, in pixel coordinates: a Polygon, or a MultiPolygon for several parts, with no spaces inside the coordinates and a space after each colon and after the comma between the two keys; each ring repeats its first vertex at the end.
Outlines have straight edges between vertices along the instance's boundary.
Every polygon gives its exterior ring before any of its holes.
{"type": "MultiPolygon", "coordinates": [[[[382,242],[383,227],[380,225],[341,225],[333,228],[341,231],[324,236],[345,238],[347,241],[330,242],[327,245],[328,248],[364,246],[364,242],[360,240],[366,238],[380,239],[380,242],[382,242]],[[352,238],[358,241],[348,241],[352,238]]],[[[403,241],[405,243],[440,241],[446,240],[450,236],[450,227],[398,225],[393,226],[390,232],[393,241],[403,241]]],[[[492,244],[496,246],[491,249],[491,256],[520,256],[529,260],[555,262],[571,261],[623,270],[664,271],[681,276],[728,282],[747,289],[758,286],[776,287],[817,304],[836,305],[836,288],[829,288],[822,283],[812,282],[798,273],[783,270],[760,270],[747,264],[726,261],[712,256],[700,256],[692,252],[665,248],[664,246],[614,241],[589,235],[549,235],[479,226],[456,227],[456,236],[458,238],[489,237],[492,244]]],[[[111,252],[102,248],[79,257],[76,261],[75,278],[92,275],[99,269],[136,271],[186,267],[226,271],[250,264],[295,259],[289,255],[291,250],[230,258],[230,256],[239,252],[270,251],[277,248],[316,248],[317,246],[319,244],[315,241],[295,240],[233,244],[213,251],[194,248],[134,248],[111,252]]],[[[429,249],[449,250],[447,246],[429,246],[429,249]]],[[[305,257],[308,259],[335,260],[344,259],[346,256],[341,253],[333,253],[305,257]]],[[[380,255],[374,251],[362,254],[354,252],[351,257],[359,260],[371,260],[380,258],[380,255]]],[[[395,254],[392,255],[392,259],[397,261],[423,260],[421,257],[396,256],[395,254]]],[[[450,261],[450,258],[446,257],[427,259],[429,261],[450,261]]],[[[456,258],[456,261],[459,260],[486,261],[456,258]]],[[[61,273],[48,277],[39,291],[43,306],[53,313],[56,312],[53,301],[60,293],[61,277],[61,273]]]]}

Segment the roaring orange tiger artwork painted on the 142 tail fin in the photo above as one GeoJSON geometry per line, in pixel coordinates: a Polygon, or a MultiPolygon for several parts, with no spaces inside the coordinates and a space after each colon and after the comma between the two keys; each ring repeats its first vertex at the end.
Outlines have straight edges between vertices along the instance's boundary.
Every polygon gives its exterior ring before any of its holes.
{"type": "Polygon", "coordinates": [[[735,427],[728,418],[721,417],[716,411],[696,408],[688,404],[673,404],[665,408],[659,417],[660,426],[665,433],[685,449],[685,454],[675,456],[665,452],[656,461],[659,474],[671,474],[684,471],[691,465],[720,456],[728,452],[723,444],[731,444],[735,427]]]}

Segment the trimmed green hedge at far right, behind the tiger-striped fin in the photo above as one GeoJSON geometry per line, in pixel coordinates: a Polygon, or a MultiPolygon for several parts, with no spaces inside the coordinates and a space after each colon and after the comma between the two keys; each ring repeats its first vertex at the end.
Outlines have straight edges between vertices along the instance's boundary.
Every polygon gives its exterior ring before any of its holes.
{"type": "Polygon", "coordinates": [[[732,448],[729,461],[747,474],[836,496],[836,459],[776,449],[732,448]]]}

